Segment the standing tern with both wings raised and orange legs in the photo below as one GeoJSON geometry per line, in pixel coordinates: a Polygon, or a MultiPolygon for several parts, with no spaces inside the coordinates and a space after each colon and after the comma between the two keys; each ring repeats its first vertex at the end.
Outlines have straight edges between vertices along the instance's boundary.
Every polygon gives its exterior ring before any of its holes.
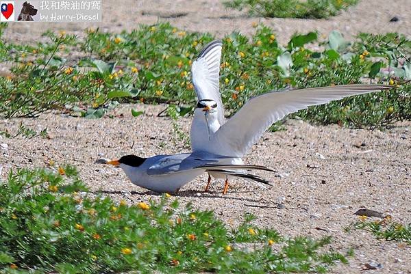
{"type": "MultiPolygon", "coordinates": [[[[190,129],[192,152],[223,155],[225,157],[219,161],[220,164],[242,165],[242,156],[249,152],[266,129],[289,113],[348,96],[392,88],[390,85],[357,84],[268,92],[251,98],[226,120],[219,91],[222,45],[220,40],[207,44],[191,68],[198,98],[190,129]]],[[[225,179],[224,189],[227,190],[229,174],[216,170],[209,170],[208,174],[206,191],[211,176],[225,179]]]]}

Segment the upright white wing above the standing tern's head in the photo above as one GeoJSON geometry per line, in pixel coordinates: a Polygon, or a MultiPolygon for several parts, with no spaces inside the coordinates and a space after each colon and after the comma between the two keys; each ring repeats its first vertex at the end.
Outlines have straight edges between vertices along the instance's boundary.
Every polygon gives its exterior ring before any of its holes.
{"type": "Polygon", "coordinates": [[[217,103],[220,124],[225,122],[219,87],[222,46],[223,42],[221,40],[208,43],[191,67],[192,83],[198,100],[212,99],[217,103]]]}

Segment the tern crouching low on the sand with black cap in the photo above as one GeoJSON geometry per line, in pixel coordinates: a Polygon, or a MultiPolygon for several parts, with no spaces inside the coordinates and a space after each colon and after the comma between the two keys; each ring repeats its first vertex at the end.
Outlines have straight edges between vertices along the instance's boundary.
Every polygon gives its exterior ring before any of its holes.
{"type": "MultiPolygon", "coordinates": [[[[207,152],[195,152],[172,155],[156,155],[141,158],[136,155],[122,156],[119,160],[98,160],[121,167],[133,184],[160,193],[175,193],[180,187],[200,176],[204,172],[218,172],[225,176],[245,178],[263,184],[268,181],[259,176],[247,173],[247,170],[272,169],[260,165],[221,165],[226,157],[207,152]]],[[[269,184],[271,185],[271,184],[269,184]]]]}

